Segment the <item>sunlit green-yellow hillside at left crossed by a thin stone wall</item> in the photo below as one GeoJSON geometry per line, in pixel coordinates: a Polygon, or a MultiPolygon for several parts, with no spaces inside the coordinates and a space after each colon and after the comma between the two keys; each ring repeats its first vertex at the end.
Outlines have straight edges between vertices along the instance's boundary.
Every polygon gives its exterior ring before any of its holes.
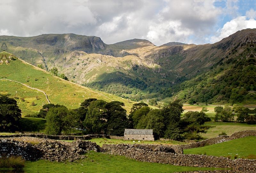
{"type": "Polygon", "coordinates": [[[5,51],[0,53],[0,94],[16,99],[23,115],[39,111],[49,102],[78,108],[87,98],[124,102],[128,112],[132,106],[128,99],[61,79],[5,51]]]}

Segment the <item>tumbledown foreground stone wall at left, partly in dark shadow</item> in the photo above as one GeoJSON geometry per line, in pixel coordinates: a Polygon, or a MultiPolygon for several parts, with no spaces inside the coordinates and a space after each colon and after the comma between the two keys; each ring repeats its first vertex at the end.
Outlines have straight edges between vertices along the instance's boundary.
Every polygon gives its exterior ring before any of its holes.
{"type": "Polygon", "coordinates": [[[16,141],[14,139],[0,140],[0,157],[22,156],[25,160],[44,159],[50,161],[70,162],[84,158],[84,154],[88,150],[100,151],[100,146],[91,141],[73,141],[60,142],[56,140],[42,140],[38,144],[31,144],[24,141],[16,141]]]}

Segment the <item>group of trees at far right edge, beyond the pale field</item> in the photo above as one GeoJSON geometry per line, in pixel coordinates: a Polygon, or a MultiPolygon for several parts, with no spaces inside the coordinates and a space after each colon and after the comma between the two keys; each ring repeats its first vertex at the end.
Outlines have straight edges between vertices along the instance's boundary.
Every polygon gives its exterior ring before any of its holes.
{"type": "Polygon", "coordinates": [[[238,104],[234,104],[231,109],[228,104],[225,104],[224,107],[216,106],[214,108],[215,121],[228,122],[234,120],[234,114],[237,113],[236,121],[239,122],[247,122],[247,124],[256,124],[256,109],[249,109],[243,106],[239,106],[238,104]],[[254,114],[254,115],[253,115],[254,114]]]}

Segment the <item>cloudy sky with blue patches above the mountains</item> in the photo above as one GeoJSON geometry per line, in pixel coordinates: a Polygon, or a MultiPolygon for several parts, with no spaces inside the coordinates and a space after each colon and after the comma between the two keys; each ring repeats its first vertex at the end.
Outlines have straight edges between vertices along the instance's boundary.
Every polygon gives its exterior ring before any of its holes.
{"type": "Polygon", "coordinates": [[[206,44],[256,28],[256,0],[0,0],[0,35],[206,44]]]}

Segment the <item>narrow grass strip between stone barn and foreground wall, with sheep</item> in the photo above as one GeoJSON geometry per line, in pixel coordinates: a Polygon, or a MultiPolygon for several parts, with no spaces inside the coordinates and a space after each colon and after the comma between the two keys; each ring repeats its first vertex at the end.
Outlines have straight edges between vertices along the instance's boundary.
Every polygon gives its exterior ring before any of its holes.
{"type": "MultiPolygon", "coordinates": [[[[67,142],[72,142],[73,140],[64,140],[67,142]]],[[[156,141],[138,141],[134,140],[119,140],[119,139],[105,139],[105,138],[94,138],[90,139],[89,141],[96,142],[100,147],[102,147],[103,144],[163,144],[163,145],[181,145],[186,144],[185,142],[180,141],[162,141],[162,140],[156,140],[156,141]]]]}

